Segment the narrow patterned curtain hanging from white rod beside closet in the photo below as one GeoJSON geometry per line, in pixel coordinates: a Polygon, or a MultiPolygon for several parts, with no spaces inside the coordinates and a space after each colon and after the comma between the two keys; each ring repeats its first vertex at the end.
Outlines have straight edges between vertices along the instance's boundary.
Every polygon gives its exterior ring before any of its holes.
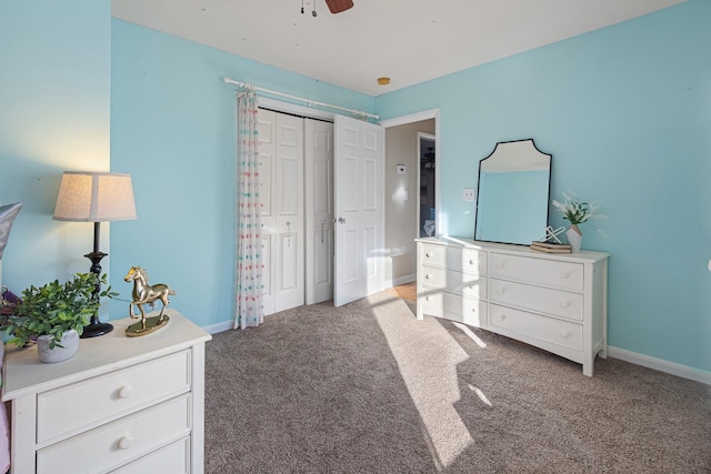
{"type": "Polygon", "coordinates": [[[239,215],[234,329],[257,326],[264,321],[257,113],[254,91],[248,89],[240,93],[237,98],[239,215]]]}

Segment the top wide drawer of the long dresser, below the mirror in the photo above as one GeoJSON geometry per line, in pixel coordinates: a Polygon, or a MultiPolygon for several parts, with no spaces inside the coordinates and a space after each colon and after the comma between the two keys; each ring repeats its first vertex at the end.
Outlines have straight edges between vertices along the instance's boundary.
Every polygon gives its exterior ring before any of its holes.
{"type": "Polygon", "coordinates": [[[583,290],[583,265],[581,263],[491,252],[487,273],[489,276],[535,283],[561,290],[583,290]]]}

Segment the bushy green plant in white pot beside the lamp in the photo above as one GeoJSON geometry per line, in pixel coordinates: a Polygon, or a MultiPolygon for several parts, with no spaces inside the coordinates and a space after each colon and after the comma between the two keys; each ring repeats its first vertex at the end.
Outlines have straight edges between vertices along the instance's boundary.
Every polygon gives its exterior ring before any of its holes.
{"type": "Polygon", "coordinates": [[[100,299],[118,295],[108,285],[98,295],[92,294],[106,283],[106,273],[77,273],[64,283],[54,280],[40,288],[32,285],[22,291],[14,314],[1,329],[12,337],[9,342],[19,346],[37,339],[42,362],[66,361],[79,349],[79,336],[99,311],[100,299]]]}

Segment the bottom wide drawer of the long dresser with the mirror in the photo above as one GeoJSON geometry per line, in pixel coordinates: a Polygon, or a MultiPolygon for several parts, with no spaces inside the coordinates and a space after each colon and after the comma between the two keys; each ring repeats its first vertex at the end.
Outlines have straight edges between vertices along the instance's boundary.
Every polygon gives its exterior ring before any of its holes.
{"type": "Polygon", "coordinates": [[[520,334],[539,341],[555,344],[573,351],[582,351],[582,325],[568,321],[545,317],[512,307],[490,304],[489,324],[503,329],[507,335],[520,334]]]}

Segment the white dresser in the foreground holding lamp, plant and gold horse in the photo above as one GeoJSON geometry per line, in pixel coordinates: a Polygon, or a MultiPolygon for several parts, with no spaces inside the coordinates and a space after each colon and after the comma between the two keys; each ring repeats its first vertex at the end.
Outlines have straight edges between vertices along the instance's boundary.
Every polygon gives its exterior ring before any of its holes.
{"type": "Polygon", "coordinates": [[[164,329],[127,337],[136,320],[41,363],[36,347],[7,347],[12,473],[202,473],[204,343],[173,310],[164,329]]]}

